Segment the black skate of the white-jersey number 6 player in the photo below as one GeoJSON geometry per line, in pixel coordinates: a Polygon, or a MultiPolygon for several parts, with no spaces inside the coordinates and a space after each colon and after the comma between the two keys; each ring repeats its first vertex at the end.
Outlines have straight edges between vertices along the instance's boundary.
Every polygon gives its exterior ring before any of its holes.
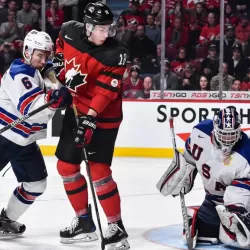
{"type": "Polygon", "coordinates": [[[26,226],[17,221],[12,221],[6,215],[4,208],[0,215],[0,237],[19,236],[24,233],[26,226]]]}

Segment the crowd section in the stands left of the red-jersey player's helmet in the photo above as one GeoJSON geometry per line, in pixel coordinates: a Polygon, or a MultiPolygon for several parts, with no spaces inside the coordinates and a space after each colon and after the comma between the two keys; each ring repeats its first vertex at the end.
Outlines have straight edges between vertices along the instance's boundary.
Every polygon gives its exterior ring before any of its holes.
{"type": "MultiPolygon", "coordinates": [[[[22,57],[23,40],[32,29],[42,30],[41,0],[0,0],[0,79],[15,58],[22,57]]],[[[46,0],[46,32],[55,42],[63,22],[82,21],[91,0],[46,0]]]]}

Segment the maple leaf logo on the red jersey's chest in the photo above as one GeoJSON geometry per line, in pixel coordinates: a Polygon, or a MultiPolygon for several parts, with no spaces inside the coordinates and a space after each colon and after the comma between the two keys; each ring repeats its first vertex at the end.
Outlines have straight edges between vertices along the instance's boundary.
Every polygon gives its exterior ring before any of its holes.
{"type": "Polygon", "coordinates": [[[87,83],[87,74],[83,74],[80,70],[80,67],[80,64],[76,64],[75,57],[70,61],[65,61],[65,68],[67,69],[65,74],[66,85],[74,92],[77,91],[77,88],[87,83]]]}

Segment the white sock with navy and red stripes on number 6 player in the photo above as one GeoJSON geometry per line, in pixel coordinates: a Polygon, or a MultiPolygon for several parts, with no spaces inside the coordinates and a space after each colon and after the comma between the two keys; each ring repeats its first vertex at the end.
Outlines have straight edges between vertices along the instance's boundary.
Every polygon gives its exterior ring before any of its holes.
{"type": "Polygon", "coordinates": [[[7,205],[6,215],[8,218],[17,221],[35,199],[43,194],[45,188],[46,179],[37,182],[23,183],[20,187],[17,187],[12,193],[7,205]]]}

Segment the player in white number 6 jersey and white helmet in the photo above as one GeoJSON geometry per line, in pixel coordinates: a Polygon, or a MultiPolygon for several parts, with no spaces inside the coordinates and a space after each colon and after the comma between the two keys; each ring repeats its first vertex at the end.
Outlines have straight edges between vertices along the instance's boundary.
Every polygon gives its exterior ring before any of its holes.
{"type": "Polygon", "coordinates": [[[1,235],[25,231],[25,225],[17,219],[46,188],[46,166],[36,140],[46,137],[47,123],[56,109],[72,103],[68,89],[60,86],[52,68],[48,68],[53,46],[47,33],[30,31],[24,39],[24,60],[14,60],[1,81],[0,129],[55,100],[49,108],[0,135],[0,170],[10,162],[17,181],[22,183],[14,190],[7,208],[2,209],[1,235]]]}

